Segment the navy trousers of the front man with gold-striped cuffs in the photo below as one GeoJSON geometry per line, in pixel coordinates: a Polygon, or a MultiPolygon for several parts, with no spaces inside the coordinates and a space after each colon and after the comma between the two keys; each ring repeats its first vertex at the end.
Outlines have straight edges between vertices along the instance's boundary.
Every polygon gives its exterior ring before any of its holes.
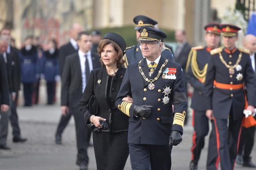
{"type": "Polygon", "coordinates": [[[132,170],[171,169],[172,146],[129,144],[129,151],[132,170]]]}

